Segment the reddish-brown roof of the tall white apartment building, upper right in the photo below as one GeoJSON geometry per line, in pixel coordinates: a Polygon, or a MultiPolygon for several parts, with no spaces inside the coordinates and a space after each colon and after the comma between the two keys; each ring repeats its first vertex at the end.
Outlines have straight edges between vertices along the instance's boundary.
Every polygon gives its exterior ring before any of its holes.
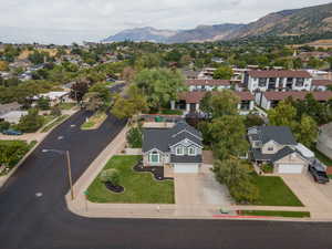
{"type": "Polygon", "coordinates": [[[311,77],[310,73],[300,70],[255,70],[249,71],[251,77],[311,77]]]}

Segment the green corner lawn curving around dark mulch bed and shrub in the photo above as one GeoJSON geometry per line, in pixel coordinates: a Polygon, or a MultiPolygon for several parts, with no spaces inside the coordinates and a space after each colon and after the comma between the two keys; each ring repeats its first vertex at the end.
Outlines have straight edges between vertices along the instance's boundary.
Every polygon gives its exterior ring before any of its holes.
{"type": "Polygon", "coordinates": [[[87,189],[87,198],[93,203],[124,204],[174,204],[173,180],[157,181],[151,173],[136,173],[133,166],[142,156],[114,156],[104,169],[116,168],[120,183],[125,188],[122,194],[108,190],[98,177],[87,189]]]}

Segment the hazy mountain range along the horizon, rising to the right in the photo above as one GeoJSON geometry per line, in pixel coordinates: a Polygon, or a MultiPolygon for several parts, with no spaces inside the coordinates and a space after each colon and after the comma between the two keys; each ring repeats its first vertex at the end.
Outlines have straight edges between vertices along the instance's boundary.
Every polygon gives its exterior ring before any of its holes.
{"type": "Polygon", "coordinates": [[[256,35],[299,35],[332,31],[332,3],[269,13],[248,24],[198,25],[191,30],[137,28],[124,30],[102,42],[151,41],[186,43],[227,41],[256,35]]]}

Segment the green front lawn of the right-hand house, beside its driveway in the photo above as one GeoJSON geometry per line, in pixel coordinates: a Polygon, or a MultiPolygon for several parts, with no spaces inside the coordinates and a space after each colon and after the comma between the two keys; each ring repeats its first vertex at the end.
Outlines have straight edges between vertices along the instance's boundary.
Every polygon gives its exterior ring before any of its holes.
{"type": "Polygon", "coordinates": [[[253,205],[303,207],[303,204],[281,177],[258,176],[257,174],[252,174],[252,183],[259,188],[259,199],[253,205]]]}

